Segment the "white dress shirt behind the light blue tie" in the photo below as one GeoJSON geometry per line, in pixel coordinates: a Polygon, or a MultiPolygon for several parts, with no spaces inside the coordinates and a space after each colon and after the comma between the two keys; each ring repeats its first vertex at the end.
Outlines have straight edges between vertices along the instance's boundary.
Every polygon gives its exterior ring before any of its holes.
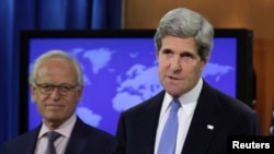
{"type": "MultiPolygon", "coordinates": [[[[178,129],[178,135],[176,135],[175,154],[181,154],[181,152],[182,152],[182,149],[184,145],[184,140],[185,140],[185,137],[187,134],[195,107],[197,105],[197,99],[198,99],[199,93],[202,91],[202,86],[203,86],[203,80],[201,78],[198,83],[196,84],[196,86],[193,90],[191,90],[186,94],[179,97],[179,100],[181,103],[181,107],[178,110],[179,129],[178,129]]],[[[169,117],[169,110],[171,108],[172,99],[173,99],[173,97],[170,94],[165,93],[164,98],[163,98],[163,103],[162,103],[159,122],[158,122],[158,128],[157,128],[155,154],[157,154],[157,152],[158,152],[159,142],[161,139],[164,123],[169,117]]]]}

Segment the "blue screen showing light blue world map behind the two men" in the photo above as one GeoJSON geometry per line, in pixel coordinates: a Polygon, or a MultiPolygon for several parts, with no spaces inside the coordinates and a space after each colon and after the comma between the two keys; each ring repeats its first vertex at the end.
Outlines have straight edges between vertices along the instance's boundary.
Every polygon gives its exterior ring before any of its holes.
{"type": "MultiPolygon", "coordinates": [[[[237,48],[235,38],[215,38],[203,71],[213,86],[236,97],[237,48]]],[[[121,111],[162,90],[152,38],[36,38],[30,44],[30,71],[45,51],[60,49],[81,64],[83,96],[77,115],[88,125],[115,134],[121,111]]],[[[42,121],[28,97],[28,129],[42,121]]]]}

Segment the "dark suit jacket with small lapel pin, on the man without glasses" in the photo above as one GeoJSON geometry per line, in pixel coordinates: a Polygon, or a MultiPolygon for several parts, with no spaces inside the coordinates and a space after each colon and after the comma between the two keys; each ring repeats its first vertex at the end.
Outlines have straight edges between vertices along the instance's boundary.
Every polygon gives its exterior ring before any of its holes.
{"type": "MultiPolygon", "coordinates": [[[[164,91],[121,115],[116,154],[153,154],[163,96],[164,91]]],[[[226,154],[228,135],[259,134],[254,110],[204,81],[182,154],[226,154]]]]}

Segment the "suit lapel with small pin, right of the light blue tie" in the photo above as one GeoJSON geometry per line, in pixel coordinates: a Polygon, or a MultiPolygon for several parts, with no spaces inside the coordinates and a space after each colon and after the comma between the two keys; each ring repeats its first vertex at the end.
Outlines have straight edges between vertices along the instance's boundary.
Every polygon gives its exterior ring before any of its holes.
{"type": "Polygon", "coordinates": [[[216,115],[218,108],[220,104],[215,97],[214,90],[204,82],[182,154],[205,153],[221,120],[220,116],[216,115]]]}

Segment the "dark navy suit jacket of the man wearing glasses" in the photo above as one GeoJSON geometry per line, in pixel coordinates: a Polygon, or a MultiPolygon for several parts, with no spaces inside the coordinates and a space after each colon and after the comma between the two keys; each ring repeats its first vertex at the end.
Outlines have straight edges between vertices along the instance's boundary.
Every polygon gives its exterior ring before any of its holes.
{"type": "MultiPolygon", "coordinates": [[[[5,142],[1,154],[33,154],[41,126],[5,142]]],[[[114,137],[77,118],[65,154],[110,154],[114,137]]]]}

